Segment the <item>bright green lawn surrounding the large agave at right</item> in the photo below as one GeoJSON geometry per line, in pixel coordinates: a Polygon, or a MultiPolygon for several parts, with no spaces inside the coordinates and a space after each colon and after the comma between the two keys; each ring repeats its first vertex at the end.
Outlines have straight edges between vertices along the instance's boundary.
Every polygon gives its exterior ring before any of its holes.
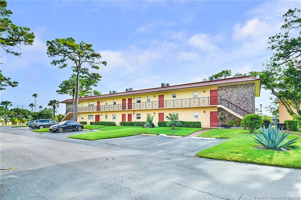
{"type": "MultiPolygon", "coordinates": [[[[198,157],[227,161],[301,168],[301,148],[288,152],[255,149],[257,143],[250,140],[251,134],[242,129],[211,129],[198,137],[229,138],[228,140],[197,153],[198,157]]],[[[290,135],[288,140],[298,136],[290,135]]],[[[294,145],[301,146],[301,138],[294,145]]]]}

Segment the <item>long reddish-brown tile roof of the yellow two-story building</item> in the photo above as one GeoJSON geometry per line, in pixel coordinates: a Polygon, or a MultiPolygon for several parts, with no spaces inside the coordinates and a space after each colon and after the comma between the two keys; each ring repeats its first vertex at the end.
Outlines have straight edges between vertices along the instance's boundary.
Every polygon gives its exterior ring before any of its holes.
{"type": "MultiPolygon", "coordinates": [[[[256,81],[256,80],[261,80],[261,79],[255,78],[252,76],[239,76],[239,77],[233,77],[233,78],[217,79],[217,80],[213,80],[213,81],[186,83],[186,84],[181,84],[181,85],[171,85],[171,86],[166,86],[166,87],[134,90],[134,91],[129,91],[129,92],[118,92],[118,93],[113,93],[113,94],[101,94],[101,95],[91,96],[91,97],[80,97],[79,100],[98,99],[98,98],[105,98],[105,97],[116,97],[116,96],[131,95],[131,94],[168,91],[168,90],[185,89],[185,88],[195,88],[195,87],[201,87],[201,86],[219,85],[219,84],[245,82],[245,81],[256,81]]],[[[67,102],[72,102],[72,99],[66,99],[64,101],[61,101],[60,103],[67,103],[67,102]]]]}

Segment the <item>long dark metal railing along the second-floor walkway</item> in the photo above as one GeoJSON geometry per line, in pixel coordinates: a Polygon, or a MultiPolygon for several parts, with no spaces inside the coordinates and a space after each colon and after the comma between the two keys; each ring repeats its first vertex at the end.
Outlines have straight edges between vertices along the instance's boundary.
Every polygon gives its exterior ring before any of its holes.
{"type": "Polygon", "coordinates": [[[210,106],[210,105],[218,105],[220,104],[220,102],[221,102],[221,97],[200,97],[200,98],[190,98],[190,99],[173,99],[173,100],[148,101],[148,102],[138,102],[138,103],[119,103],[119,104],[100,105],[100,106],[83,106],[83,107],[78,107],[77,112],[210,106]]]}

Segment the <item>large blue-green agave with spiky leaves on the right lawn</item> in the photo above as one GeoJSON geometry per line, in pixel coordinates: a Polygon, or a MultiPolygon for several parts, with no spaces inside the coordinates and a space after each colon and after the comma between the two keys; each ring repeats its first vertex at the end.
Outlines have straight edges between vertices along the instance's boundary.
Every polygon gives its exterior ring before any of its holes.
{"type": "Polygon", "coordinates": [[[280,128],[273,128],[271,125],[268,127],[268,130],[266,130],[265,126],[263,125],[263,127],[261,128],[261,133],[257,131],[257,134],[253,133],[253,135],[256,138],[252,137],[252,139],[250,138],[251,140],[268,149],[281,149],[282,151],[287,152],[287,148],[299,147],[292,145],[296,142],[295,140],[299,139],[299,137],[289,140],[287,143],[284,143],[290,134],[286,134],[286,131],[283,133],[282,129],[280,131],[280,128]]]}

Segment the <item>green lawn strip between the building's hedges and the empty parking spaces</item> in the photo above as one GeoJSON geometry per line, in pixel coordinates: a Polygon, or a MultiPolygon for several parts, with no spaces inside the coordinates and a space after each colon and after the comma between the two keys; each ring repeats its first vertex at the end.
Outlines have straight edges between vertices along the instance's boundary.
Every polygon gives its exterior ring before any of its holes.
{"type": "MultiPolygon", "coordinates": [[[[108,127],[102,128],[107,129],[108,127]]],[[[99,140],[116,137],[127,137],[133,135],[139,135],[142,133],[148,134],[166,134],[166,135],[179,135],[188,136],[196,131],[203,130],[204,128],[176,128],[171,130],[170,127],[154,127],[154,128],[141,128],[128,126],[127,128],[120,128],[120,126],[112,126],[110,130],[105,131],[93,131],[88,133],[70,135],[70,138],[82,139],[82,140],[99,140]],[[115,127],[115,129],[113,128],[115,127]]]]}

